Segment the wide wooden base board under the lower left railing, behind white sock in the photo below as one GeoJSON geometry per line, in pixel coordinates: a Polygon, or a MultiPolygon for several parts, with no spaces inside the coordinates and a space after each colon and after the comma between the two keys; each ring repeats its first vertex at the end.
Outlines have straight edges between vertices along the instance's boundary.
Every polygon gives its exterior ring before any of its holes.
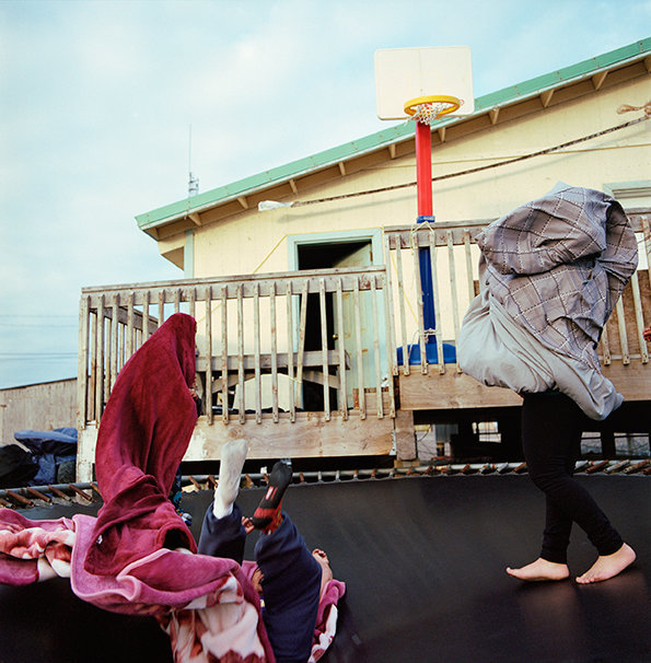
{"type": "Polygon", "coordinates": [[[286,412],[274,422],[263,415],[260,424],[231,422],[228,427],[216,421],[209,427],[199,417],[184,461],[219,458],[222,445],[233,438],[248,441],[248,458],[328,457],[386,455],[393,446],[393,419],[361,419],[350,412],[344,420],[335,410],[330,421],[319,412],[297,412],[292,423],[286,412]]]}

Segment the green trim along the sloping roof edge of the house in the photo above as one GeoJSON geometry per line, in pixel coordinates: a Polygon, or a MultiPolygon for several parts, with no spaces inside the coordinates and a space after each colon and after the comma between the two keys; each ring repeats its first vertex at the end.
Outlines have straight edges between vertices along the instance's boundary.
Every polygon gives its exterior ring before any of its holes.
{"type": "MultiPolygon", "coordinates": [[[[516,85],[485,94],[475,100],[475,112],[468,117],[486,113],[488,108],[495,106],[513,103],[526,98],[527,96],[539,94],[543,90],[553,89],[573,79],[594,74],[602,69],[607,69],[619,62],[637,58],[649,51],[651,51],[651,37],[635,42],[633,44],[617,48],[616,50],[612,50],[604,55],[583,60],[577,65],[559,69],[558,71],[546,73],[528,81],[518,83],[516,85]]],[[[439,123],[435,123],[434,126],[442,127],[451,125],[463,119],[468,119],[468,117],[441,119],[439,123]]],[[[280,184],[304,173],[336,164],[351,156],[359,156],[365,152],[372,152],[384,146],[397,142],[412,133],[414,124],[411,121],[406,121],[351,142],[318,152],[312,156],[305,156],[269,171],[252,175],[251,177],[245,177],[244,179],[239,179],[237,182],[205,191],[204,194],[198,194],[191,198],[185,198],[150,212],[138,214],[136,221],[138,222],[140,230],[147,231],[148,229],[163,225],[186,214],[210,208],[219,201],[233,200],[239,196],[249,195],[256,190],[269,188],[275,184],[280,184]]]]}

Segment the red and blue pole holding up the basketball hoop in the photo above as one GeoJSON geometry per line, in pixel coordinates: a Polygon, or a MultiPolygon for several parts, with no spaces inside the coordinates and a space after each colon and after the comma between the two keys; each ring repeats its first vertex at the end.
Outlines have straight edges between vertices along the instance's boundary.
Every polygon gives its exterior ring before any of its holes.
{"type": "MultiPolygon", "coordinates": [[[[429,125],[416,120],[416,188],[417,223],[433,222],[432,199],[432,129],[429,125]]],[[[419,248],[420,288],[422,292],[422,321],[426,329],[435,329],[434,295],[429,248],[419,248]]],[[[433,337],[427,344],[433,342],[433,337]]],[[[428,358],[429,359],[429,358],[428,358]]],[[[422,358],[421,358],[422,361],[422,358]]],[[[440,359],[442,361],[442,359],[440,359]]]]}

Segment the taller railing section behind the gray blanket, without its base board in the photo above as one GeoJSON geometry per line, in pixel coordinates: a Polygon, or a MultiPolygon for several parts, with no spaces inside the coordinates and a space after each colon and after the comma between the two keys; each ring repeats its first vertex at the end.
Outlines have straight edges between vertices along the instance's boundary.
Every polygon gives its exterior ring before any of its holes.
{"type": "MultiPolygon", "coordinates": [[[[651,324],[648,299],[651,282],[648,269],[651,263],[651,214],[632,211],[629,217],[640,240],[640,254],[646,254],[646,257],[640,255],[643,269],[632,276],[604,332],[600,354],[606,365],[613,361],[621,361],[624,364],[631,360],[640,360],[642,363],[649,361],[642,330],[651,324]]],[[[479,254],[475,237],[490,221],[421,223],[384,229],[390,289],[393,292],[393,340],[398,348],[398,363],[402,364],[403,374],[408,375],[412,369],[402,358],[412,358],[415,349],[419,370],[423,374],[429,372],[431,365],[439,373],[445,373],[446,363],[458,371],[453,348],[456,347],[463,315],[478,288],[479,254]],[[423,305],[422,260],[432,275],[431,304],[435,313],[433,328],[426,328],[423,319],[427,303],[423,305]],[[428,344],[434,344],[435,351],[428,352],[428,344]],[[449,352],[444,351],[444,344],[449,344],[449,352]],[[434,357],[435,361],[428,360],[428,357],[434,357]]]]}

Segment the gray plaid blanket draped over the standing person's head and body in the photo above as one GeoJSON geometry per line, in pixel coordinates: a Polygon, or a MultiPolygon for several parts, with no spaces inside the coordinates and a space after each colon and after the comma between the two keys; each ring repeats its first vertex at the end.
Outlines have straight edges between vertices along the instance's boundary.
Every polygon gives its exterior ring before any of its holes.
{"type": "Polygon", "coordinates": [[[516,392],[558,388],[597,419],[618,407],[596,347],[637,268],[621,206],[559,183],[491,223],[477,244],[481,293],[462,325],[462,370],[516,392]]]}

